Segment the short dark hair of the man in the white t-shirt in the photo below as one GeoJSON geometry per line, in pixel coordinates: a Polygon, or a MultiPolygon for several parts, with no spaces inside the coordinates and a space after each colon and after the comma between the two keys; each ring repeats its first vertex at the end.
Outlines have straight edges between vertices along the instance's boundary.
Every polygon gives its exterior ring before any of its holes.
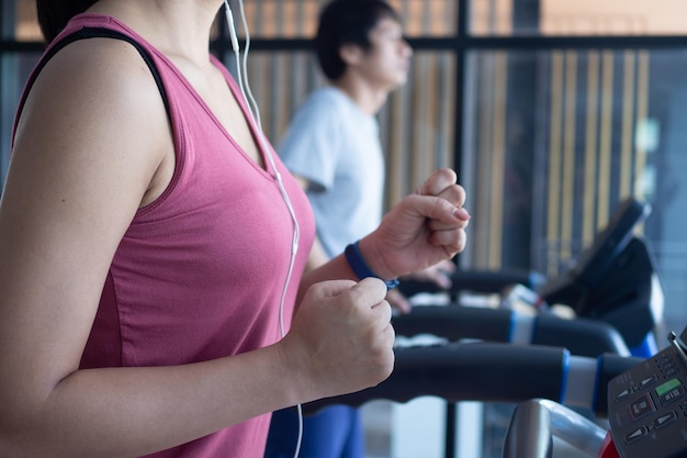
{"type": "Polygon", "coordinates": [[[382,0],[334,0],[322,10],[315,53],[327,78],[336,80],[346,71],[341,46],[352,44],[369,51],[370,31],[384,18],[401,22],[396,11],[382,0]]]}

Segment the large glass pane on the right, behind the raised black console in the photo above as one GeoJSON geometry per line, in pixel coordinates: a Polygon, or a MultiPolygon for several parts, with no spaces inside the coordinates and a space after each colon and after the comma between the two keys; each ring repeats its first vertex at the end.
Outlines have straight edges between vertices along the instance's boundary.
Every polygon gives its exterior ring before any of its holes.
{"type": "Polygon", "coordinates": [[[667,328],[687,320],[687,51],[474,53],[466,157],[470,265],[562,275],[621,199],[652,205],[641,227],[667,328]]]}

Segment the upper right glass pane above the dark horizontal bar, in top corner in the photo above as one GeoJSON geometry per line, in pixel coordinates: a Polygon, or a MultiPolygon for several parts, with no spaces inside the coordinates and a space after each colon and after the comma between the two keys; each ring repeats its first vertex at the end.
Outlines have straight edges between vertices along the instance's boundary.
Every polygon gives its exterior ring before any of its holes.
{"type": "Polygon", "coordinates": [[[474,35],[680,35],[683,0],[472,0],[474,35]]]}

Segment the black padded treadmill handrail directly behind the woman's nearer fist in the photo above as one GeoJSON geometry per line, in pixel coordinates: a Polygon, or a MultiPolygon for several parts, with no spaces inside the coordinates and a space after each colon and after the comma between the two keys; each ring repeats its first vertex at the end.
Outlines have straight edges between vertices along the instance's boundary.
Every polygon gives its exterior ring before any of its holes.
{"type": "MultiPolygon", "coordinates": [[[[425,395],[449,402],[518,403],[536,398],[568,402],[564,399],[565,388],[573,368],[568,367],[570,351],[566,348],[454,343],[396,348],[395,355],[394,371],[382,383],[303,404],[303,412],[313,414],[335,404],[360,406],[380,399],[407,402],[425,395]]],[[[596,387],[606,387],[607,380],[637,364],[638,358],[601,355],[596,373],[589,377],[595,377],[596,387]]],[[[599,416],[606,415],[605,390],[590,403],[577,404],[575,406],[590,409],[599,416]]]]}

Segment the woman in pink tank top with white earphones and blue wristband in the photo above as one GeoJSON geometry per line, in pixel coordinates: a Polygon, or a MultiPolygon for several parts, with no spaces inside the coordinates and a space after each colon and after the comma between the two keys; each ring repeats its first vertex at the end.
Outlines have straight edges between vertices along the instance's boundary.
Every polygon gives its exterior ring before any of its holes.
{"type": "Polygon", "coordinates": [[[37,1],[0,201],[2,457],[260,458],[270,412],[391,373],[380,279],[464,247],[442,169],[304,271],[307,200],[209,52],[223,4],[37,1]]]}

